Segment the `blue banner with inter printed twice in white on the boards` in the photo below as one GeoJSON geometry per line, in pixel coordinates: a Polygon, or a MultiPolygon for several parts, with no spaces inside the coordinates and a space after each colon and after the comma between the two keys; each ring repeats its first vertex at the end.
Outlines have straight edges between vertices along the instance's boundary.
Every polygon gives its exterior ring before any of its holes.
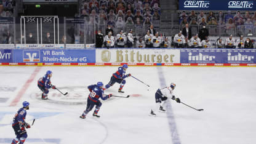
{"type": "Polygon", "coordinates": [[[256,50],[184,49],[180,63],[256,63],[256,50]]]}

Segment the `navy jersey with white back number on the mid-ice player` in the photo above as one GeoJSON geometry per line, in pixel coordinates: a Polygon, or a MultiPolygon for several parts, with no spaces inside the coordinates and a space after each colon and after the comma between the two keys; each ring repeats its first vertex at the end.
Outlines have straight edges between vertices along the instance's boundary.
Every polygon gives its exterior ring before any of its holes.
{"type": "Polygon", "coordinates": [[[89,98],[93,102],[98,102],[99,98],[102,98],[102,100],[108,99],[108,95],[104,95],[103,89],[100,89],[96,84],[88,86],[88,89],[90,90],[89,98]]]}

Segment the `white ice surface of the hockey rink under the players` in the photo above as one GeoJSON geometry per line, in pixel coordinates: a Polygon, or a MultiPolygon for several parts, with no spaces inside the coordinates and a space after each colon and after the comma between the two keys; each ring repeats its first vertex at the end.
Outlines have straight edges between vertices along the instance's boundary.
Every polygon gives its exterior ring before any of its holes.
{"type": "Polygon", "coordinates": [[[124,94],[114,84],[105,94],[100,118],[86,108],[87,86],[107,84],[118,66],[0,66],[0,143],[15,138],[12,118],[23,101],[30,102],[25,143],[51,144],[253,144],[256,143],[255,67],[129,66],[124,94]],[[41,100],[37,80],[53,71],[49,100],[41,100]],[[169,100],[166,113],[149,116],[158,88],[175,82],[174,95],[194,108],[169,100]]]}

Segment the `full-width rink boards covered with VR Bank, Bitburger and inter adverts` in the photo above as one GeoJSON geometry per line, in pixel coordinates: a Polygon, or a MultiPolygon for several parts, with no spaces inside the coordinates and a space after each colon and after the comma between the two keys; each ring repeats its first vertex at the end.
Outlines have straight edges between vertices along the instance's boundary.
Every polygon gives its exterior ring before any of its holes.
{"type": "Polygon", "coordinates": [[[0,49],[0,65],[256,66],[254,49],[0,49]]]}

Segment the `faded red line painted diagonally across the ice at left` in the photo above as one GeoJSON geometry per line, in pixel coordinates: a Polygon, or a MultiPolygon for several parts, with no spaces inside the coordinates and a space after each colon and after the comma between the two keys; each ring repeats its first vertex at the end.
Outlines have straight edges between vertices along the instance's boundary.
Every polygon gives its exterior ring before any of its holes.
{"type": "Polygon", "coordinates": [[[41,66],[36,67],[34,72],[31,74],[30,78],[28,78],[28,80],[22,86],[22,89],[20,89],[20,91],[18,92],[14,100],[12,100],[12,102],[10,103],[10,106],[16,106],[17,103],[20,102],[20,98],[22,98],[22,96],[25,94],[26,89],[28,89],[28,87],[30,86],[30,83],[34,80],[34,77],[36,76],[36,74],[38,74],[41,68],[42,68],[41,66]]]}

